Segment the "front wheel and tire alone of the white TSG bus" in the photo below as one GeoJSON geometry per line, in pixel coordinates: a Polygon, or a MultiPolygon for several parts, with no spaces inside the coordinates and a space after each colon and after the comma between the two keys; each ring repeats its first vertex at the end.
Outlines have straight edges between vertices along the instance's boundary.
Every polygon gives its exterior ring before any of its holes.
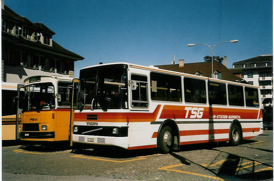
{"type": "Polygon", "coordinates": [[[174,134],[170,126],[165,126],[160,131],[159,148],[163,154],[170,153],[174,145],[174,134]]]}

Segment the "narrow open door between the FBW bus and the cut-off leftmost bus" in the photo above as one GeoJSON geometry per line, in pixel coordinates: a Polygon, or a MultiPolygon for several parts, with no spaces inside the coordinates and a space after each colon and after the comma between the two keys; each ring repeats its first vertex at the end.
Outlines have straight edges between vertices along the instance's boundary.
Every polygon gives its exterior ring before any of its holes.
{"type": "Polygon", "coordinates": [[[17,85],[17,99],[14,98],[14,104],[16,106],[16,124],[15,124],[15,139],[20,139],[20,133],[18,131],[18,125],[19,125],[19,115],[22,112],[23,109],[23,99],[24,99],[24,84],[18,84],[17,85]]]}

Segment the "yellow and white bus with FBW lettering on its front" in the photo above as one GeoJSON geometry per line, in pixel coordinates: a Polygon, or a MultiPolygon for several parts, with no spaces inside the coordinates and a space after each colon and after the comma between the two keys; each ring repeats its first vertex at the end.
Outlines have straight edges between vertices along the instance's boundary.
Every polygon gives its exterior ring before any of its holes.
{"type": "Polygon", "coordinates": [[[69,140],[69,87],[72,80],[73,78],[50,75],[36,75],[24,80],[18,128],[22,143],[69,140]]]}

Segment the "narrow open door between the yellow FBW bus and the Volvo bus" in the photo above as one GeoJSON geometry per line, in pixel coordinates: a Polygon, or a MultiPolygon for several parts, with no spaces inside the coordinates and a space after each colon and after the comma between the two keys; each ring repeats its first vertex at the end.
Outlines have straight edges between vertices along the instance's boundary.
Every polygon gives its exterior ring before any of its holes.
{"type": "MultiPolygon", "coordinates": [[[[71,91],[71,116],[70,116],[70,135],[69,135],[69,140],[70,140],[70,146],[72,146],[72,134],[73,134],[73,119],[74,119],[74,107],[76,103],[76,96],[77,96],[77,91],[79,87],[79,82],[80,80],[78,78],[74,78],[72,80],[72,91],[71,91]]],[[[67,93],[69,93],[69,87],[67,88],[67,93]]],[[[70,97],[70,96],[68,96],[70,97]]]]}

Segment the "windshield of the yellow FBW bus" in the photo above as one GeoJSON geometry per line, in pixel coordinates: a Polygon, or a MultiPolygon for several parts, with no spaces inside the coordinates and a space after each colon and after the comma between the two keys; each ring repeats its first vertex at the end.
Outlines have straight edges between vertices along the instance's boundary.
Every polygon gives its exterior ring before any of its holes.
{"type": "Polygon", "coordinates": [[[52,110],[55,108],[54,86],[50,82],[25,86],[23,111],[52,110]]]}

